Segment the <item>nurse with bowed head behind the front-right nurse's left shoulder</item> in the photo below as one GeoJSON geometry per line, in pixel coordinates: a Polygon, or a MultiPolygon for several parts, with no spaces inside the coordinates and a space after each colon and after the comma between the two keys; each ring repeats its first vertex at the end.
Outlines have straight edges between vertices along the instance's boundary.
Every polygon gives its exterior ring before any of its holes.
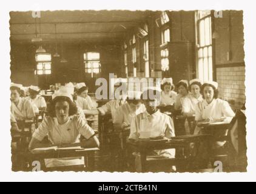
{"type": "Polygon", "coordinates": [[[141,92],[138,91],[127,92],[127,103],[116,109],[113,119],[114,129],[129,129],[132,118],[146,110],[144,104],[141,104],[140,96],[141,92]]]}

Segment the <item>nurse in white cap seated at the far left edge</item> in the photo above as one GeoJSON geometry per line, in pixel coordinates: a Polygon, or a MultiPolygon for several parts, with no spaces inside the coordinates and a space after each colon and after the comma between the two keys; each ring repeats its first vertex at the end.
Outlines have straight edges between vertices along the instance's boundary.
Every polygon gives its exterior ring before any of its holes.
{"type": "Polygon", "coordinates": [[[11,90],[11,113],[16,121],[31,120],[35,117],[32,102],[21,97],[21,84],[10,85],[11,90]]]}

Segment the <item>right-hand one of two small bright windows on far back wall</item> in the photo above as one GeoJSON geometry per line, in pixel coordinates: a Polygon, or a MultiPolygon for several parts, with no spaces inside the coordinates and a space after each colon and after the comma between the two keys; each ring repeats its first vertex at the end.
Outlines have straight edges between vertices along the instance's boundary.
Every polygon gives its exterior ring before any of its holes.
{"type": "Polygon", "coordinates": [[[92,76],[92,78],[94,74],[100,73],[101,64],[99,61],[99,53],[84,53],[84,65],[86,73],[89,73],[92,76]]]}

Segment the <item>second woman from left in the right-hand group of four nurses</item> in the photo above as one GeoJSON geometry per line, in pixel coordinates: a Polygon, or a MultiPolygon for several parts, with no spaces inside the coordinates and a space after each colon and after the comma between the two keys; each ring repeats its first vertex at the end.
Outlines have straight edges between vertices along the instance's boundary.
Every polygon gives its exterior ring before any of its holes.
{"type": "Polygon", "coordinates": [[[189,94],[189,90],[187,88],[188,86],[189,86],[189,84],[188,84],[187,80],[184,80],[184,79],[179,81],[178,84],[176,85],[176,87],[178,89],[178,95],[175,98],[174,108],[178,112],[181,112],[181,109],[182,109],[182,99],[181,98],[184,98],[185,96],[187,96],[189,94]]]}

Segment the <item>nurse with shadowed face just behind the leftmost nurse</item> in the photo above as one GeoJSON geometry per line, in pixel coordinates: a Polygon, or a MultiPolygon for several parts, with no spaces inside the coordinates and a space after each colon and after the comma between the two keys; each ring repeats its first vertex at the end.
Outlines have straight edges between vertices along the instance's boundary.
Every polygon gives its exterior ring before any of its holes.
{"type": "Polygon", "coordinates": [[[38,107],[39,110],[46,110],[46,102],[44,97],[39,96],[40,89],[35,85],[30,85],[29,87],[29,97],[30,101],[38,107]]]}

